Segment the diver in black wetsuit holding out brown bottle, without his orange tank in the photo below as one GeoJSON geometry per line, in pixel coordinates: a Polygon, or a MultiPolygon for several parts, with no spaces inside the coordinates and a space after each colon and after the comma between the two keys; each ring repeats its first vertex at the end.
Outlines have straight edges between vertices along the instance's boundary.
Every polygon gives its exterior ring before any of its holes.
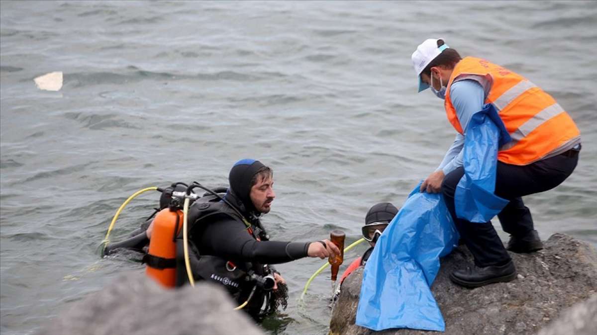
{"type": "MultiPolygon", "coordinates": [[[[243,310],[259,321],[279,305],[286,305],[284,278],[271,264],[304,257],[324,259],[338,255],[340,250],[328,240],[269,240],[259,218],[270,211],[275,198],[273,172],[258,160],[236,162],[229,183],[224,200],[195,201],[189,208],[191,268],[196,278],[224,286],[239,304],[257,287],[243,310]],[[256,286],[250,280],[254,275],[273,277],[273,289],[256,286]]],[[[151,233],[149,225],[146,235],[151,233]]]]}

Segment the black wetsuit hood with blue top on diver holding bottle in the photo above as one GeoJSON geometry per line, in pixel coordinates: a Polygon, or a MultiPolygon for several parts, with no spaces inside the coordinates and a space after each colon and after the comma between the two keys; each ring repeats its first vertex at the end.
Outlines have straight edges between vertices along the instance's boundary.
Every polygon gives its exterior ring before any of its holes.
{"type": "Polygon", "coordinates": [[[257,213],[253,201],[251,201],[250,194],[251,179],[253,179],[253,176],[263,166],[263,163],[259,162],[259,160],[241,159],[234,163],[232,169],[230,169],[228,176],[230,188],[225,198],[247,215],[254,215],[256,217],[260,215],[260,213],[257,213]]]}

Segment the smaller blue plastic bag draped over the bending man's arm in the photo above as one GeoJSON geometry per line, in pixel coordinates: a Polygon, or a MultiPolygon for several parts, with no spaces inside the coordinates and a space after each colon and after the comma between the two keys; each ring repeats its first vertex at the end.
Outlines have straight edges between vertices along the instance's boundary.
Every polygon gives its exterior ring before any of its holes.
{"type": "Polygon", "coordinates": [[[488,222],[509,200],[493,194],[496,188],[497,151],[512,141],[493,104],[486,104],[470,119],[464,137],[464,175],[456,187],[456,216],[470,222],[488,222]]]}

